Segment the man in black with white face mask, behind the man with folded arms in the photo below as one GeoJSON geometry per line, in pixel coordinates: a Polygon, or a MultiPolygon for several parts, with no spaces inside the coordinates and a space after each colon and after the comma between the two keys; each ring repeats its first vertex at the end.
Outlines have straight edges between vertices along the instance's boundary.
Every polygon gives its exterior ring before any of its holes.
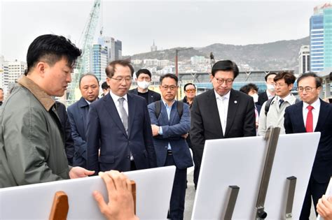
{"type": "Polygon", "coordinates": [[[145,98],[147,104],[159,101],[161,98],[160,94],[148,89],[148,86],[151,83],[151,72],[146,68],[141,68],[139,71],[137,71],[136,77],[137,88],[131,89],[128,92],[130,94],[139,95],[145,98]]]}

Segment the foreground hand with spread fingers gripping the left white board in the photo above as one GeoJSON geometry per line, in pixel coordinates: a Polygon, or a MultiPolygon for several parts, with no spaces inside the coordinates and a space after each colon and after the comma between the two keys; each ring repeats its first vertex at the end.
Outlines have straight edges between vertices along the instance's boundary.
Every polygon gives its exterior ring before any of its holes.
{"type": "Polygon", "coordinates": [[[123,173],[116,170],[99,172],[106,184],[109,203],[105,203],[102,194],[93,192],[93,196],[98,203],[99,210],[109,220],[137,220],[134,214],[134,200],[132,198],[132,185],[130,180],[123,173]]]}

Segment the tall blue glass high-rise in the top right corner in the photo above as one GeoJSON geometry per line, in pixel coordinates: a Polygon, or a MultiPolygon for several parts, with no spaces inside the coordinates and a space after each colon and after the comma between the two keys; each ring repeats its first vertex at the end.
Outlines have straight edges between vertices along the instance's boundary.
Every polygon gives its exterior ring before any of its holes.
{"type": "Polygon", "coordinates": [[[310,17],[310,70],[324,71],[332,67],[332,5],[314,8],[310,17]]]}

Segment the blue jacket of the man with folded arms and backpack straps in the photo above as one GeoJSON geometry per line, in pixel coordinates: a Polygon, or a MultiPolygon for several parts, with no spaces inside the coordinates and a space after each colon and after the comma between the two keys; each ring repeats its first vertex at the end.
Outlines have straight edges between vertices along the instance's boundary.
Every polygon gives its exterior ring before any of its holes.
{"type": "Polygon", "coordinates": [[[172,105],[170,120],[163,102],[160,103],[161,108],[158,119],[155,116],[155,103],[148,105],[151,124],[162,127],[162,135],[153,137],[158,167],[165,166],[168,143],[172,147],[172,155],[177,168],[185,169],[193,166],[193,159],[191,158],[186,139],[181,137],[181,135],[189,132],[191,126],[189,106],[184,103],[184,111],[180,118],[177,112],[177,103],[178,101],[175,101],[172,105]]]}

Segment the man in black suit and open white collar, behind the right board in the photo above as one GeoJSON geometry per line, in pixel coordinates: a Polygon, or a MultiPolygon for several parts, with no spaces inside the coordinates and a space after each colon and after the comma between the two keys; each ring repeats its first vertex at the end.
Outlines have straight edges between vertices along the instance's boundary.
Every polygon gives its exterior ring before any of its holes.
{"type": "Polygon", "coordinates": [[[254,100],[232,89],[239,75],[230,60],[216,62],[212,67],[213,89],[196,96],[191,107],[191,142],[200,163],[205,140],[239,138],[256,135],[254,100]]]}

